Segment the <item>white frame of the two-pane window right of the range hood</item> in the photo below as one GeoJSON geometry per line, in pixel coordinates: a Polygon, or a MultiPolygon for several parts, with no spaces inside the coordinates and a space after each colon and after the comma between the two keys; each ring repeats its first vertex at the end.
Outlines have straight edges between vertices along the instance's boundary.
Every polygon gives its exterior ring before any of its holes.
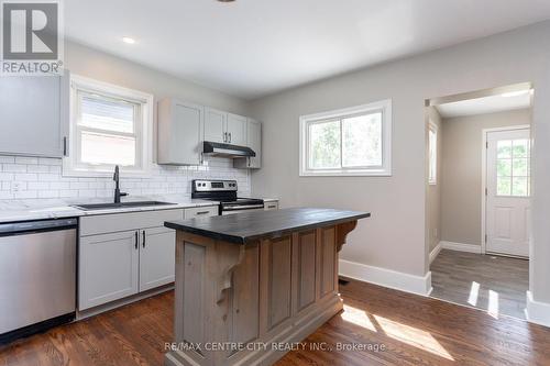
{"type": "Polygon", "coordinates": [[[354,176],[392,176],[392,100],[386,99],[369,104],[339,109],[322,113],[300,117],[299,125],[299,166],[300,177],[354,177],[354,176]],[[312,123],[341,120],[367,113],[382,112],[382,165],[337,169],[311,169],[308,167],[309,158],[309,129],[312,123]]]}

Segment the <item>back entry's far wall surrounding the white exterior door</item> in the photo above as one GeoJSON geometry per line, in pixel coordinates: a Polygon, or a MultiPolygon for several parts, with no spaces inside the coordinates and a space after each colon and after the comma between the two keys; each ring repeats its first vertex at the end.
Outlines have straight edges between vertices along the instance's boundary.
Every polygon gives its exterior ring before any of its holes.
{"type": "Polygon", "coordinates": [[[441,240],[481,245],[482,130],[530,120],[530,109],[443,120],[441,240]]]}

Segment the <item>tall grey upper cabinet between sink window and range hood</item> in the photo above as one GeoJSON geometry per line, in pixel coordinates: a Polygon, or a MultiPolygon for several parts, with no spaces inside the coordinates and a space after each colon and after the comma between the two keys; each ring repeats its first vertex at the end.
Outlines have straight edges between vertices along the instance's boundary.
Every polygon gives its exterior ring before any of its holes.
{"type": "Polygon", "coordinates": [[[201,163],[205,109],[165,99],[158,103],[158,164],[201,163]]]}

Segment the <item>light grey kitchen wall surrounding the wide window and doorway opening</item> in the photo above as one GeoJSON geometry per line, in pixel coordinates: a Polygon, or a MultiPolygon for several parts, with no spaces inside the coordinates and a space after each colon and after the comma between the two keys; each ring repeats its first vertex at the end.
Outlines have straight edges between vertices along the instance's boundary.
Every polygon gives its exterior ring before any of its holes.
{"type": "Polygon", "coordinates": [[[326,206],[372,212],[348,237],[343,259],[424,276],[426,124],[425,100],[532,81],[534,249],[531,290],[550,302],[550,22],[387,63],[256,100],[264,122],[263,168],[252,175],[256,196],[282,204],[326,206]],[[298,118],[302,114],[393,100],[392,177],[299,177],[298,118]],[[542,187],[538,189],[538,187],[542,187]]]}

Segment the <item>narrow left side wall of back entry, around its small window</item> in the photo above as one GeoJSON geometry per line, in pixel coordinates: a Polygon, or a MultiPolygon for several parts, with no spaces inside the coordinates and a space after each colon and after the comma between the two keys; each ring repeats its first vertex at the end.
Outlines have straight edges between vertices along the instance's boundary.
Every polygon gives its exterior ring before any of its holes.
{"type": "MultiPolygon", "coordinates": [[[[428,107],[428,123],[431,121],[438,127],[438,153],[437,153],[437,179],[436,185],[427,185],[427,206],[426,206],[426,240],[429,245],[430,252],[438,245],[441,241],[441,184],[442,184],[442,146],[443,146],[443,125],[441,115],[435,107],[428,107]]],[[[428,126],[426,126],[426,164],[429,162],[429,140],[428,140],[428,126]]]]}

